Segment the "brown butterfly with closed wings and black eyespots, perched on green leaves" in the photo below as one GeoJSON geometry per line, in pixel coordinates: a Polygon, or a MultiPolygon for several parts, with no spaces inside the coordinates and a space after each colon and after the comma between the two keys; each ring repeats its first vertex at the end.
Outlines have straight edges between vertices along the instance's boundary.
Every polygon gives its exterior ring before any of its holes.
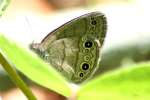
{"type": "Polygon", "coordinates": [[[81,83],[99,66],[106,28],[102,13],[88,13],[52,31],[31,49],[71,82],[81,83]]]}

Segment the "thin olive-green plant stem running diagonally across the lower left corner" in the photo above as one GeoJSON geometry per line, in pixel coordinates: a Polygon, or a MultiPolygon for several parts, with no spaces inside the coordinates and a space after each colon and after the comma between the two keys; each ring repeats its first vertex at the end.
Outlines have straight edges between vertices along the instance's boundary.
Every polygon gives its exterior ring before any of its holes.
{"type": "Polygon", "coordinates": [[[21,89],[21,91],[26,95],[28,100],[37,100],[33,95],[32,91],[28,88],[28,86],[24,83],[21,77],[18,75],[17,71],[13,68],[13,65],[6,60],[6,57],[0,51],[0,64],[3,66],[5,71],[9,74],[9,77],[13,80],[13,82],[21,89]]]}

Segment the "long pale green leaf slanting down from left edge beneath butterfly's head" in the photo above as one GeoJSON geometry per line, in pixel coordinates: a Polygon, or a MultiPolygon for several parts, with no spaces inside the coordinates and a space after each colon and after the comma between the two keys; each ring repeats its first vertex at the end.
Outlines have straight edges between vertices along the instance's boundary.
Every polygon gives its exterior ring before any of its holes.
{"type": "Polygon", "coordinates": [[[27,48],[18,46],[0,35],[0,50],[20,72],[32,81],[66,97],[70,96],[71,90],[64,77],[27,48]]]}

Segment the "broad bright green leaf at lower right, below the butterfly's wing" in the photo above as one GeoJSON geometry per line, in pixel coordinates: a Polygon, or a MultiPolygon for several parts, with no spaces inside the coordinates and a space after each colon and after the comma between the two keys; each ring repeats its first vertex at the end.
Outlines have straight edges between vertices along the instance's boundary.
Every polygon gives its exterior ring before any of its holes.
{"type": "Polygon", "coordinates": [[[150,62],[112,71],[82,84],[77,100],[150,100],[150,62]]]}

